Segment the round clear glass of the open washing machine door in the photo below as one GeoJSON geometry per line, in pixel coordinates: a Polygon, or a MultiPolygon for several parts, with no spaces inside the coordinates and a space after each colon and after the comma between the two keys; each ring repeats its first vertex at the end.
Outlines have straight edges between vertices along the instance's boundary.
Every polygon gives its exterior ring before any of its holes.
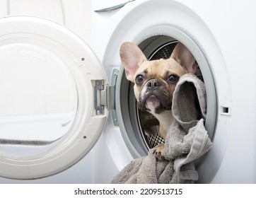
{"type": "Polygon", "coordinates": [[[49,150],[72,127],[78,96],[69,68],[54,51],[28,42],[0,45],[0,154],[49,150]]]}

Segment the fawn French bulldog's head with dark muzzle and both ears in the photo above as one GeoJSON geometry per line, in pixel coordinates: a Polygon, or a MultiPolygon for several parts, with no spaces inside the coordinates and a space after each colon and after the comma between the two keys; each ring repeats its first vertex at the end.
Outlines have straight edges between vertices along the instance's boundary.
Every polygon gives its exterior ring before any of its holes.
{"type": "Polygon", "coordinates": [[[148,61],[132,42],[120,47],[125,75],[134,83],[134,94],[141,110],[160,114],[171,110],[173,91],[180,76],[192,73],[197,64],[191,52],[179,42],[169,59],[148,61]]]}

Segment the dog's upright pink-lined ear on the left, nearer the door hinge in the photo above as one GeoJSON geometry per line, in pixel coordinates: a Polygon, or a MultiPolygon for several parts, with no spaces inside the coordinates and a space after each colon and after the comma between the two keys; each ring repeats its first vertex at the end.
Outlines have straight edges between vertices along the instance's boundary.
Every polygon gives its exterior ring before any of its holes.
{"type": "Polygon", "coordinates": [[[125,69],[125,76],[134,82],[134,74],[146,57],[138,46],[132,42],[124,42],[120,47],[120,57],[125,69]]]}

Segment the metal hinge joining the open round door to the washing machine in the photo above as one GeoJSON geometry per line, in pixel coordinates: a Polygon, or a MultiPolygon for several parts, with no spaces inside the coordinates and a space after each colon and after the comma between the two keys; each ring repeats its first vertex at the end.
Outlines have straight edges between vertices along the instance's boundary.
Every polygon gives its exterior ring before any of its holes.
{"type": "Polygon", "coordinates": [[[104,80],[96,80],[94,87],[94,108],[96,115],[104,115],[105,108],[112,114],[112,120],[115,126],[118,125],[115,112],[115,84],[117,81],[118,70],[114,69],[112,73],[111,85],[104,86],[104,80]]]}

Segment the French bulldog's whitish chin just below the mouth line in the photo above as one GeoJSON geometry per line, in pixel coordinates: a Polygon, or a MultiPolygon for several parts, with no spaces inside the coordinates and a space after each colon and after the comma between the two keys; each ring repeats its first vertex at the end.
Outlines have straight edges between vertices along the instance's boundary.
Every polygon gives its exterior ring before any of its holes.
{"type": "Polygon", "coordinates": [[[140,110],[146,110],[156,114],[160,114],[165,110],[171,110],[171,108],[171,103],[163,105],[161,100],[159,100],[155,95],[151,95],[146,100],[139,102],[140,110]]]}

